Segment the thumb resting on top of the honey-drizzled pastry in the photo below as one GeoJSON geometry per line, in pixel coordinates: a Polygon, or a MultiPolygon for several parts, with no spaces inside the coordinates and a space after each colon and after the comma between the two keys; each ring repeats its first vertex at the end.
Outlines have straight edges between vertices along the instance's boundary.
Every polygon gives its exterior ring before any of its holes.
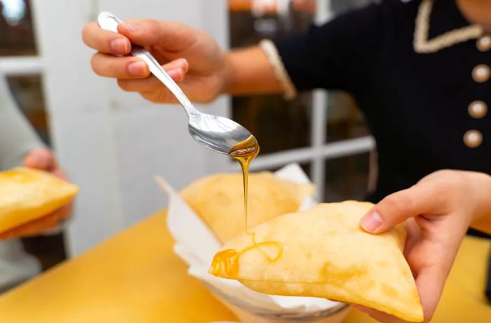
{"type": "Polygon", "coordinates": [[[360,225],[370,233],[386,232],[408,218],[433,211],[436,203],[431,187],[418,183],[382,199],[363,216],[360,225]]]}

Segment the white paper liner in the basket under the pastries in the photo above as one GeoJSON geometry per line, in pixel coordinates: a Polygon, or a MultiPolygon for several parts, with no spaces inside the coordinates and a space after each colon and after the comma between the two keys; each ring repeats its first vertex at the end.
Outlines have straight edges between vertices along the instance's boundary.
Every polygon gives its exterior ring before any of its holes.
{"type": "MultiPolygon", "coordinates": [[[[295,183],[310,184],[309,178],[298,164],[289,164],[275,176],[295,183]]],[[[339,305],[338,302],[325,298],[271,296],[257,293],[240,282],[231,279],[223,279],[208,274],[208,268],[213,256],[220,251],[221,244],[213,235],[208,226],[194,213],[194,211],[181,199],[180,195],[161,178],[159,185],[169,195],[167,225],[170,234],[175,239],[174,251],[189,265],[188,273],[220,291],[220,294],[238,299],[250,308],[274,313],[311,313],[339,305]]],[[[316,203],[313,197],[306,197],[300,210],[309,209],[316,203]]]]}

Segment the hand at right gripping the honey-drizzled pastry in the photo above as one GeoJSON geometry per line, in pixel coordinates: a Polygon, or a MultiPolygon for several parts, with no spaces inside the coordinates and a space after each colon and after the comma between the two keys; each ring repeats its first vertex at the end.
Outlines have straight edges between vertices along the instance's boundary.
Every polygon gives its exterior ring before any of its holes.
{"type": "MultiPolygon", "coordinates": [[[[443,292],[455,255],[469,228],[491,232],[491,176],[472,171],[436,171],[416,185],[389,195],[361,220],[379,234],[408,222],[405,258],[416,279],[429,321],[443,292]]],[[[382,322],[401,322],[358,307],[382,322]]]]}

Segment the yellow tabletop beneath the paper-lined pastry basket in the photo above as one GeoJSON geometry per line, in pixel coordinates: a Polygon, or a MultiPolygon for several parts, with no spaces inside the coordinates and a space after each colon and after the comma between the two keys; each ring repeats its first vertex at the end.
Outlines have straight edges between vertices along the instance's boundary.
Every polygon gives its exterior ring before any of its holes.
{"type": "MultiPolygon", "coordinates": [[[[165,212],[0,297],[1,323],[234,321],[172,251],[165,212]]],[[[433,322],[485,322],[489,242],[466,238],[433,322]]],[[[375,322],[352,311],[346,323],[375,322]]]]}

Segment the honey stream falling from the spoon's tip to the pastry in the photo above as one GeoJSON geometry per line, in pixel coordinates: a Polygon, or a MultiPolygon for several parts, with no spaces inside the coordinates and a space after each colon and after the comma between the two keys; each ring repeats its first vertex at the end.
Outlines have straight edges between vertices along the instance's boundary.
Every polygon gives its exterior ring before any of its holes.
{"type": "Polygon", "coordinates": [[[229,152],[229,155],[241,165],[244,190],[245,233],[249,232],[248,225],[248,178],[250,162],[259,154],[259,144],[254,136],[241,141],[229,152]]]}

